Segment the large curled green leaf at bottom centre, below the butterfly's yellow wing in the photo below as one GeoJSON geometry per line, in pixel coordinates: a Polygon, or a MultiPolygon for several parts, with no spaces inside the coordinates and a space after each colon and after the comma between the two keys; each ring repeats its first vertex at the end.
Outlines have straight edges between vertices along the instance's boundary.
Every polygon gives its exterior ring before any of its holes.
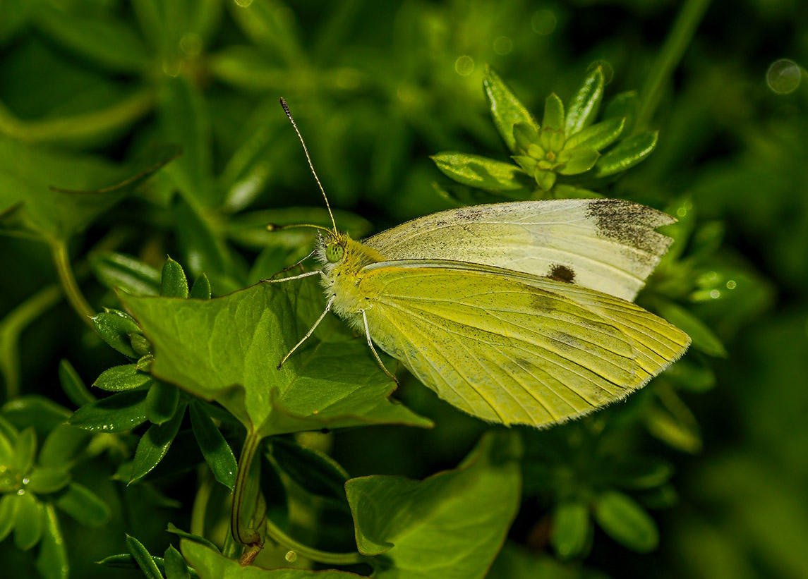
{"type": "Polygon", "coordinates": [[[484,577],[519,507],[520,453],[515,433],[491,430],[455,470],[348,480],[360,553],[390,561],[374,577],[484,577]]]}

